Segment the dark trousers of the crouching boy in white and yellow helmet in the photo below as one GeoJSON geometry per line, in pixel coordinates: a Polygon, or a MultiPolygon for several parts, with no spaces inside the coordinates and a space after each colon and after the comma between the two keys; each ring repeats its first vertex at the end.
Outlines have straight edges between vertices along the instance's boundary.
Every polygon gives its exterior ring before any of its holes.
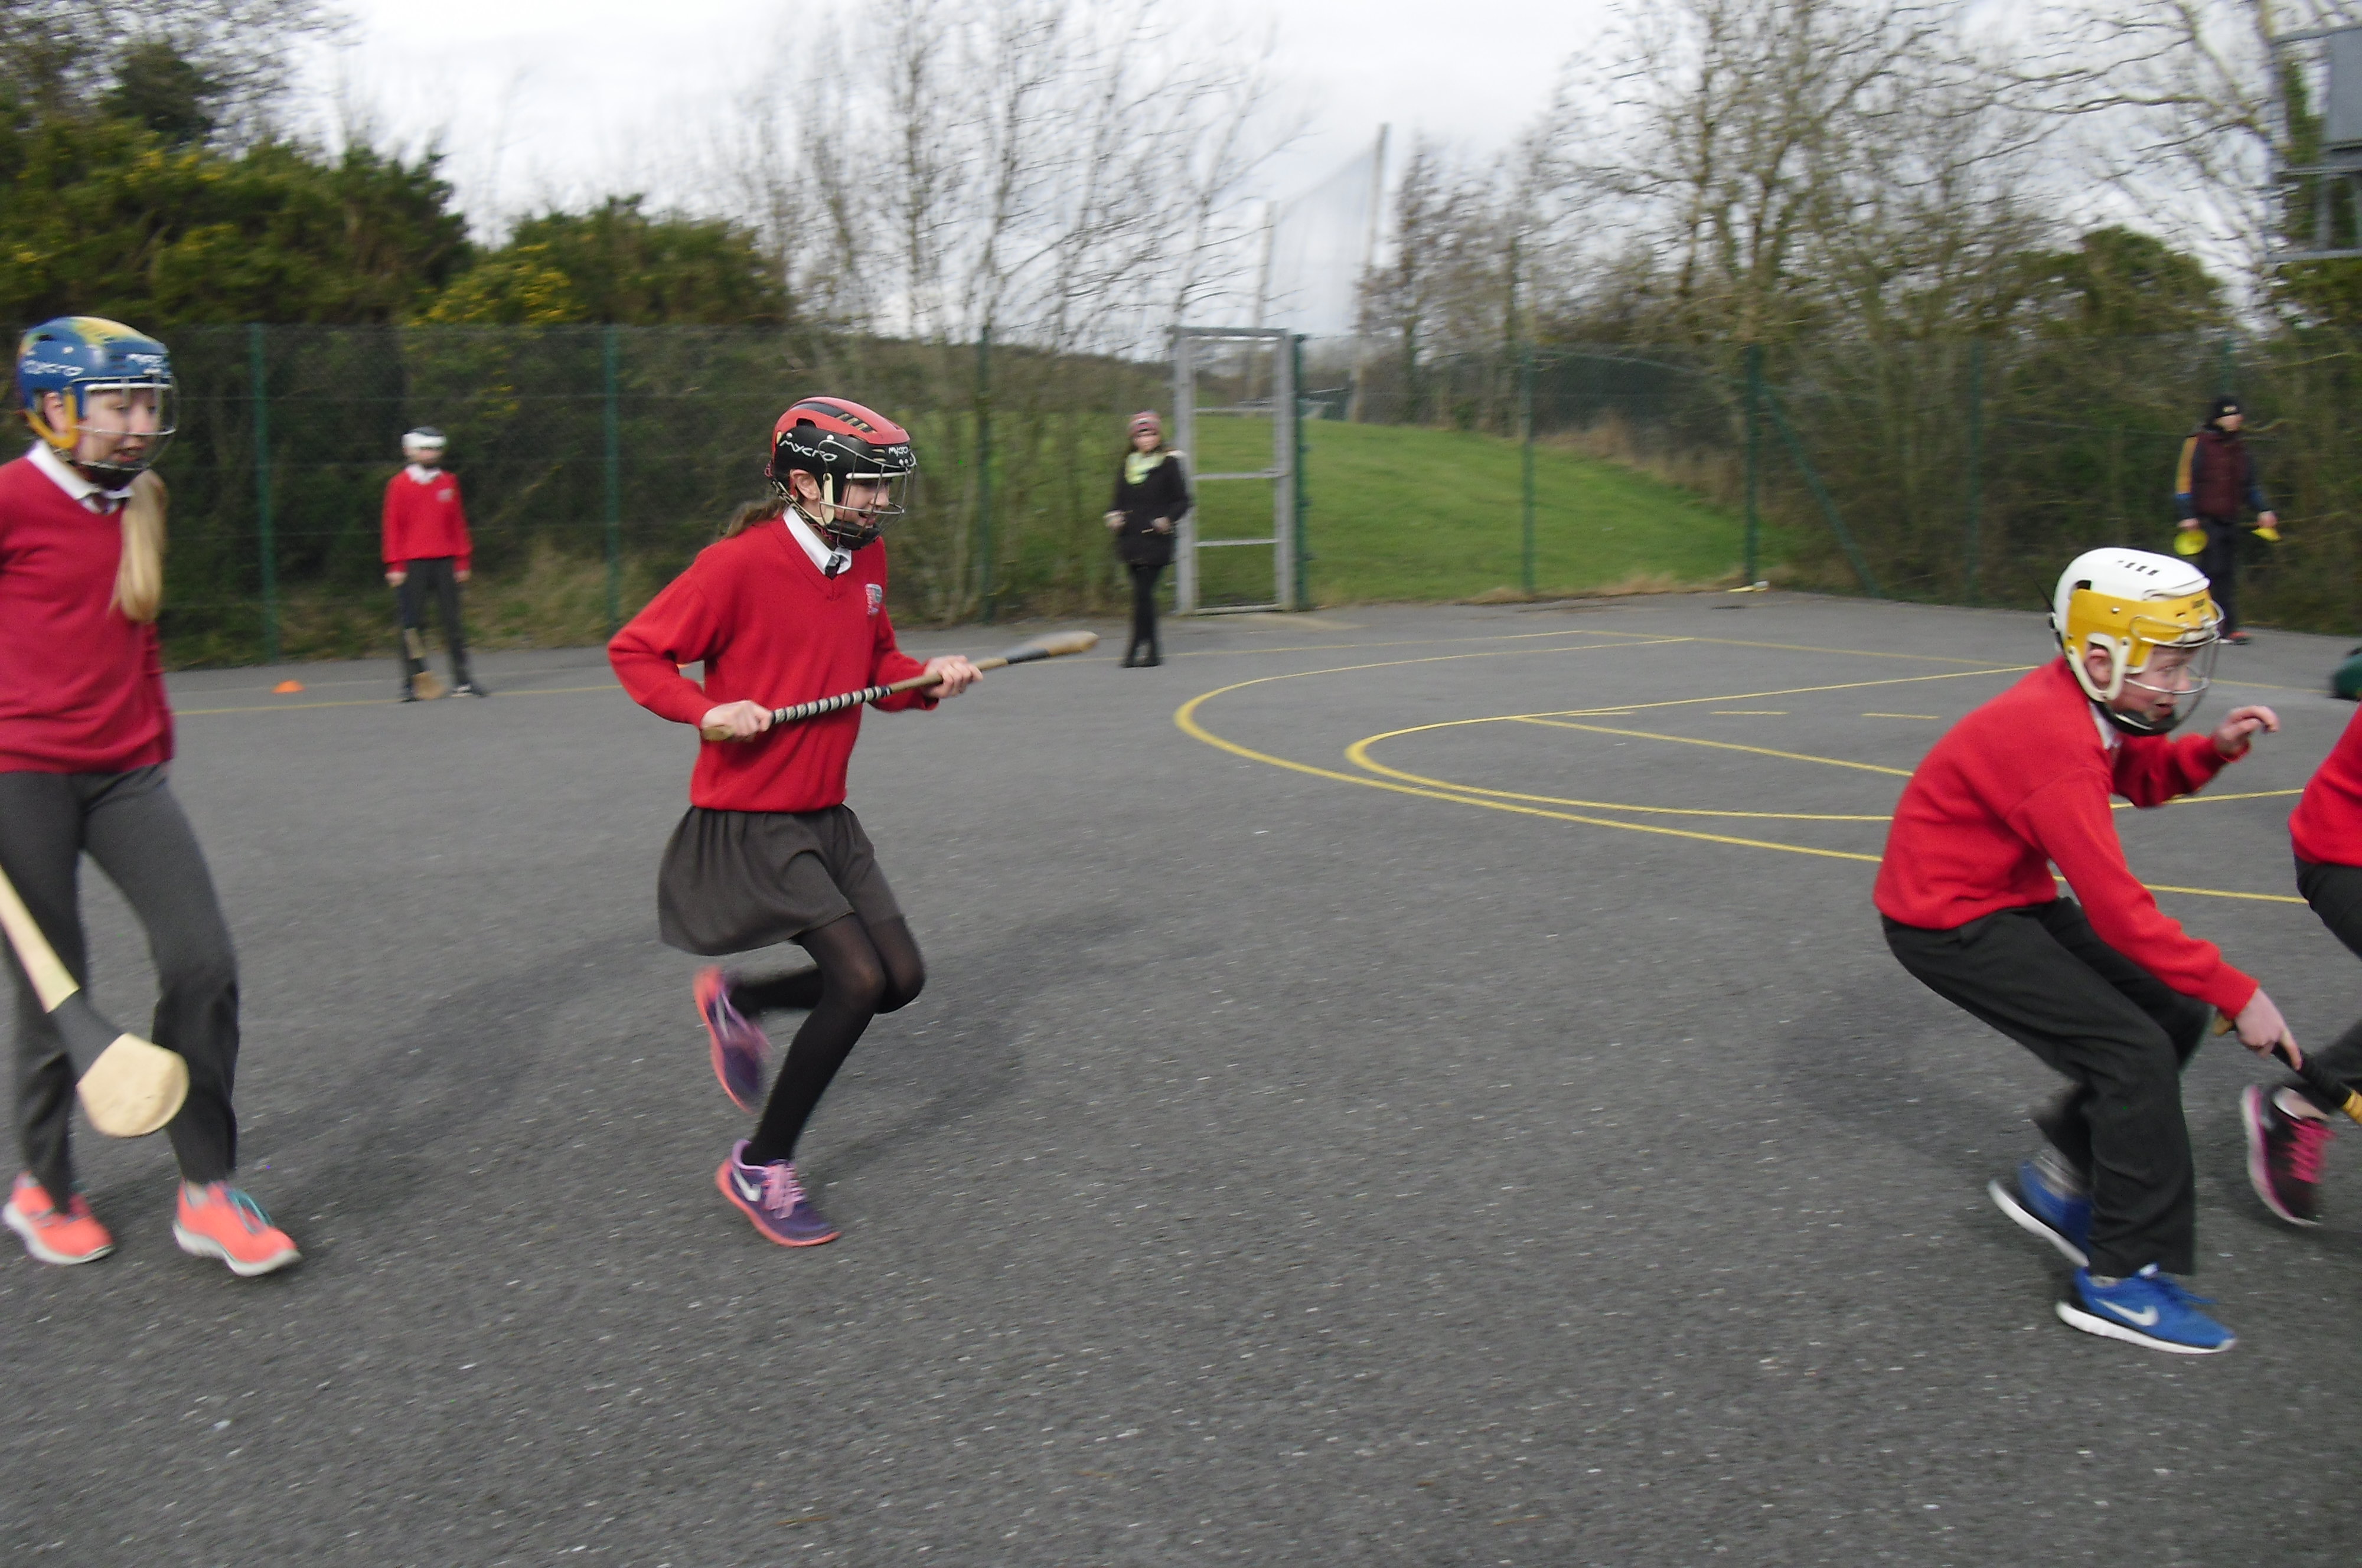
{"type": "Polygon", "coordinates": [[[2102,942],[2067,897],[1953,930],[1885,928],[1920,985],[2069,1079],[2034,1124],[2090,1183],[2090,1270],[2190,1273],[2197,1190],[2182,1067],[2213,1008],[2102,942]]]}

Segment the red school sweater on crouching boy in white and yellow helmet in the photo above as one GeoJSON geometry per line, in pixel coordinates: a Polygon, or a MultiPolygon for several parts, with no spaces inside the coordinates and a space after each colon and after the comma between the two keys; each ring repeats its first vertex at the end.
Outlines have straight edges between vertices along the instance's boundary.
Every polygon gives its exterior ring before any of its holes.
{"type": "Polygon", "coordinates": [[[2055,864],[2109,947],[2182,992],[2237,1013],[2256,982],[2166,919],[2123,864],[2107,798],[2164,805],[2223,772],[2213,737],[2126,734],[2109,751],[2067,659],[2053,659],[1934,744],[1887,827],[1880,914],[1951,930],[2057,897],[2055,864]]]}

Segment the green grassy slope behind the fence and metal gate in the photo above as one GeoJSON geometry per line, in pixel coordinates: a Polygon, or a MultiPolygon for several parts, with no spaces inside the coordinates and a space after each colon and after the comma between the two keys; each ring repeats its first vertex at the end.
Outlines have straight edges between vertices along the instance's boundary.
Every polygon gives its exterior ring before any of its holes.
{"type": "MultiPolygon", "coordinates": [[[[1460,430],[1311,420],[1311,590],[1320,605],[1512,597],[1521,581],[1519,444],[1460,430]]],[[[1268,463],[1268,420],[1200,420],[1198,468],[1268,463]]],[[[1535,590],[1665,590],[1738,581],[1743,522],[1630,468],[1533,451],[1535,590]]],[[[1207,538],[1271,531],[1268,484],[1200,489],[1207,538]],[[1259,527],[1257,527],[1259,524],[1259,527]]],[[[1207,557],[1207,588],[1271,595],[1271,553],[1207,557]],[[1216,569],[1219,567],[1219,569],[1216,569]]]]}

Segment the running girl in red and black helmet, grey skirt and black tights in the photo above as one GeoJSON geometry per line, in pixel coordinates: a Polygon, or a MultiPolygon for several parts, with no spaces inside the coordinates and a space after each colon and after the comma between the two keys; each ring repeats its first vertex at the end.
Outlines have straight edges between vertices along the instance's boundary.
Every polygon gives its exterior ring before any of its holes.
{"type": "Polygon", "coordinates": [[[723,1091],[753,1110],[768,1011],[805,1011],[753,1136],[713,1174],[753,1228],[782,1247],[836,1240],[796,1178],[796,1138],[876,1013],[907,1006],[926,966],[860,819],[846,808],[857,706],[772,730],[770,711],[869,685],[938,675],[879,708],[933,708],[978,678],[952,654],[919,664],[886,616],[895,486],[916,470],[909,432],[841,397],[808,397],[772,427],[770,501],[739,508],[720,538],[614,635],[607,656],[640,706],[725,732],[690,777],[690,815],[657,876],[671,947],[732,954],[796,942],[815,968],[753,980],[697,973],[697,1015],[723,1091]],[[704,685],[680,673],[704,664],[704,685]]]}

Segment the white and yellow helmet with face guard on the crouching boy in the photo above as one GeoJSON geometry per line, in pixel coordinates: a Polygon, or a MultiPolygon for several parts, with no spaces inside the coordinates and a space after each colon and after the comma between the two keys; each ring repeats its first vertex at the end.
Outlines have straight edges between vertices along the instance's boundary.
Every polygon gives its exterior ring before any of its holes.
{"type": "Polygon", "coordinates": [[[2067,668],[2107,708],[2107,720],[2133,734],[2164,734],[2197,711],[2213,680],[2220,628],[2223,612],[2206,593],[2206,574],[2154,550],[2086,550],[2067,564],[2050,597],[2050,631],[2067,654],[2067,668]],[[2083,664],[2090,647],[2107,649],[2107,685],[2095,685],[2083,664]],[[2126,680],[2140,685],[2138,678],[2159,647],[2190,649],[2187,675],[2173,692],[2173,716],[2147,720],[2109,708],[2126,680]]]}

